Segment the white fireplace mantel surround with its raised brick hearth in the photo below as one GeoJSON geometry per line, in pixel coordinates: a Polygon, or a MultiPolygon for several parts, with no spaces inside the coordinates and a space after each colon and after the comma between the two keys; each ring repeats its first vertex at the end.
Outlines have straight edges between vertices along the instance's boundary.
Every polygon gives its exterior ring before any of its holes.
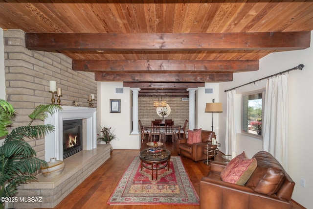
{"type": "Polygon", "coordinates": [[[45,137],[45,160],[48,162],[52,157],[63,160],[63,120],[71,119],[83,119],[83,150],[64,159],[65,168],[60,175],[45,177],[40,173],[36,176],[37,182],[20,186],[18,200],[37,197],[41,202],[22,201],[9,207],[54,208],[110,158],[111,145],[96,144],[96,108],[63,106],[63,110],[45,121],[55,127],[55,131],[45,137]]]}

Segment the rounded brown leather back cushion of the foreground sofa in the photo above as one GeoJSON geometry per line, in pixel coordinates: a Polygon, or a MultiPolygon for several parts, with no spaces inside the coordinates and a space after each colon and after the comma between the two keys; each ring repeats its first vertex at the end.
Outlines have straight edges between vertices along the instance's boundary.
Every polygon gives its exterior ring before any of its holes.
{"type": "Polygon", "coordinates": [[[283,167],[272,155],[264,151],[256,153],[253,158],[257,160],[258,166],[246,186],[262,194],[275,194],[285,180],[283,167]]]}

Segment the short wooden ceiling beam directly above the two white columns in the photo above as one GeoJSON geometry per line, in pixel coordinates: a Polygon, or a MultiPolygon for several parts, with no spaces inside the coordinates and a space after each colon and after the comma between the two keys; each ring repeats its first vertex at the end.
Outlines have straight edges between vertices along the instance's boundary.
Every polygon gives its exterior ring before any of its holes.
{"type": "Polygon", "coordinates": [[[141,89],[188,89],[188,88],[198,88],[198,87],[204,87],[204,82],[124,82],[124,87],[131,87],[131,88],[141,88],[141,89]]]}

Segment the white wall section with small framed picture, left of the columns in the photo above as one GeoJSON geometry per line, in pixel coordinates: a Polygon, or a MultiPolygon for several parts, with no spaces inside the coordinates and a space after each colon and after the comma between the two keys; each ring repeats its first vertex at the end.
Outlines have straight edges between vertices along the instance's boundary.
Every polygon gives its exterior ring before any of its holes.
{"type": "MultiPolygon", "coordinates": [[[[130,98],[132,98],[132,91],[129,87],[123,87],[123,82],[102,82],[98,87],[98,122],[101,127],[112,127],[118,138],[111,141],[112,148],[139,149],[140,136],[131,135],[132,100],[130,98]],[[123,93],[115,93],[116,88],[123,88],[123,93]],[[121,113],[110,113],[110,99],[121,100],[121,113]]],[[[97,133],[100,133],[100,127],[97,133]]]]}

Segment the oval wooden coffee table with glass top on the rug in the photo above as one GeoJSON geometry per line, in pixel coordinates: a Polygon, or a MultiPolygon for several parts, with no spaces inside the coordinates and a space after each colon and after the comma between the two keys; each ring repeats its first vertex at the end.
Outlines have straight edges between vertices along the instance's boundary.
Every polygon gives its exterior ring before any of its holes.
{"type": "Polygon", "coordinates": [[[153,180],[153,171],[156,171],[156,180],[157,180],[157,171],[163,169],[167,166],[167,170],[170,169],[170,158],[171,152],[165,148],[144,148],[139,152],[140,158],[140,169],[145,167],[151,170],[151,178],[153,180]],[[158,150],[157,152],[151,152],[149,149],[158,150]],[[160,165],[161,164],[161,165],[160,165]]]}

